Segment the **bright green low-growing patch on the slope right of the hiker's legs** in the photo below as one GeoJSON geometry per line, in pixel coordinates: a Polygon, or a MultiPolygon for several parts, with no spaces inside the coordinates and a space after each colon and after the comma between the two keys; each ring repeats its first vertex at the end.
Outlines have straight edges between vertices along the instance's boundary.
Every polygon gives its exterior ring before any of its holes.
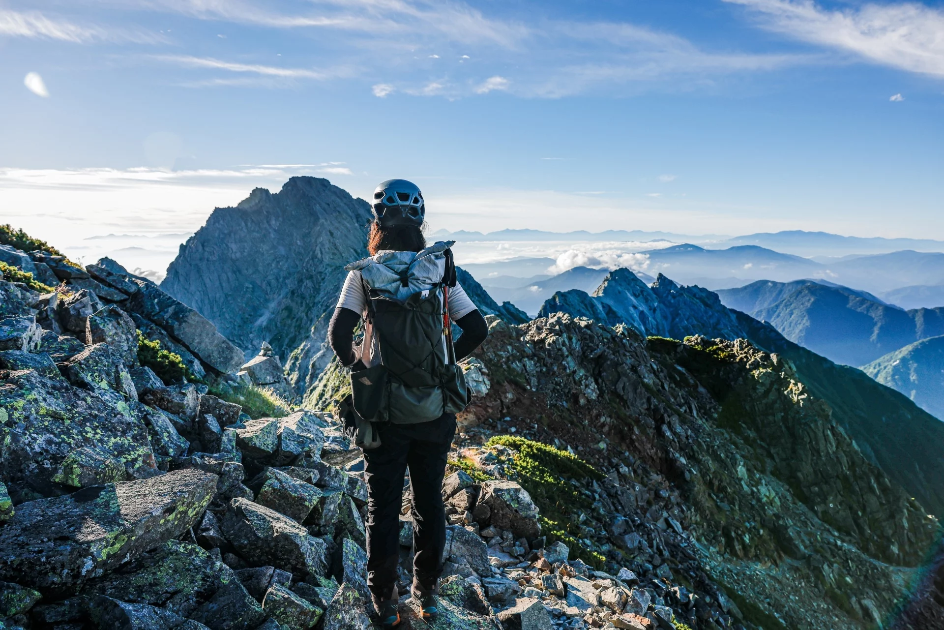
{"type": "Polygon", "coordinates": [[[581,513],[593,510],[593,502],[579,490],[582,482],[600,480],[603,475],[567,451],[523,437],[496,435],[485,445],[515,451],[514,472],[540,510],[542,533],[548,542],[560,540],[570,548],[571,558],[602,569],[606,558],[587,549],[579,539],[581,513]]]}

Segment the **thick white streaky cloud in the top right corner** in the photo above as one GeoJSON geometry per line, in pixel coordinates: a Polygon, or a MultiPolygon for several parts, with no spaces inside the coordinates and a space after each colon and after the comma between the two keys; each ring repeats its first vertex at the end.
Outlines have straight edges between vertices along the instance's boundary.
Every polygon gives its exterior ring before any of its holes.
{"type": "Polygon", "coordinates": [[[909,72],[944,77],[944,11],[918,3],[824,9],[812,0],[725,0],[770,30],[909,72]]]}

